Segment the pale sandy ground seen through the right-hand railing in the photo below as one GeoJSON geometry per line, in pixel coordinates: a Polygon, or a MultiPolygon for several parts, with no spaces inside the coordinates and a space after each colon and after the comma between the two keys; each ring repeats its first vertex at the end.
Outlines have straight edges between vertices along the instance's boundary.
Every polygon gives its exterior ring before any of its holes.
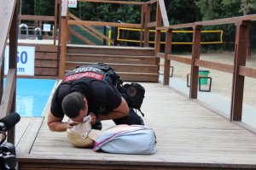
{"type": "MultiPolygon", "coordinates": [[[[220,54],[201,54],[201,59],[233,65],[234,53],[225,52],[220,54]]],[[[163,63],[162,59],[160,63],[163,63]]],[[[171,65],[174,66],[173,77],[182,78],[183,81],[186,81],[187,74],[190,72],[190,65],[175,61],[172,61],[171,65]]],[[[251,59],[247,59],[246,65],[248,67],[256,68],[256,54],[252,55],[251,59]]],[[[222,94],[229,98],[231,97],[232,74],[202,67],[200,70],[210,71],[209,76],[212,77],[212,93],[222,94]]],[[[160,68],[160,71],[162,71],[162,68],[160,68]]],[[[246,77],[244,87],[244,104],[256,107],[256,79],[246,77]]]]}

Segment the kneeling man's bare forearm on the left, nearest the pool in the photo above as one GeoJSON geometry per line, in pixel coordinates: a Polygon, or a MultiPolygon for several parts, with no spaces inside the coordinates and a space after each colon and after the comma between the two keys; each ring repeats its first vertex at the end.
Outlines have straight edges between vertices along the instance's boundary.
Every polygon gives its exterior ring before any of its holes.
{"type": "Polygon", "coordinates": [[[58,118],[52,115],[51,112],[48,114],[47,124],[50,131],[54,132],[65,132],[67,128],[72,127],[68,122],[62,122],[63,118],[58,118]]]}

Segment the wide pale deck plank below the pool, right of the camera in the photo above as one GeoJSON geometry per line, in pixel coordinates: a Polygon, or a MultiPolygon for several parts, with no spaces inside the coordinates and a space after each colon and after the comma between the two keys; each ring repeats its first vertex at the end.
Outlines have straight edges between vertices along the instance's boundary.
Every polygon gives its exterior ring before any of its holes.
{"type": "Polygon", "coordinates": [[[22,135],[22,139],[16,144],[16,150],[19,150],[19,154],[30,153],[43,121],[44,117],[33,117],[32,120],[28,122],[26,131],[22,135]]]}

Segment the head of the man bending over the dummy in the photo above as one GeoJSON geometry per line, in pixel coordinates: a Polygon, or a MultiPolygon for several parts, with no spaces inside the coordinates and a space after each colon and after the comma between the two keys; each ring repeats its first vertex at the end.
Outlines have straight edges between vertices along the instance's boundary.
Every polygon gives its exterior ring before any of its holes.
{"type": "Polygon", "coordinates": [[[64,114],[69,118],[78,118],[77,122],[82,121],[84,116],[87,116],[88,105],[86,104],[86,99],[83,94],[79,92],[73,92],[67,94],[63,99],[61,104],[64,114]],[[81,119],[81,120],[80,120],[81,119]]]}

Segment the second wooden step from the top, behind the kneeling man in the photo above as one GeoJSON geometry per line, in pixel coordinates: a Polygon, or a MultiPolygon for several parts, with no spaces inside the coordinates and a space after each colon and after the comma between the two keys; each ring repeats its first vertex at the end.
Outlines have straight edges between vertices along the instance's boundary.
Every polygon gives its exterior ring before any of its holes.
{"type": "Polygon", "coordinates": [[[110,54],[67,54],[67,61],[95,62],[100,63],[125,63],[139,65],[155,65],[154,56],[129,56],[129,55],[110,55],[110,54]]]}

